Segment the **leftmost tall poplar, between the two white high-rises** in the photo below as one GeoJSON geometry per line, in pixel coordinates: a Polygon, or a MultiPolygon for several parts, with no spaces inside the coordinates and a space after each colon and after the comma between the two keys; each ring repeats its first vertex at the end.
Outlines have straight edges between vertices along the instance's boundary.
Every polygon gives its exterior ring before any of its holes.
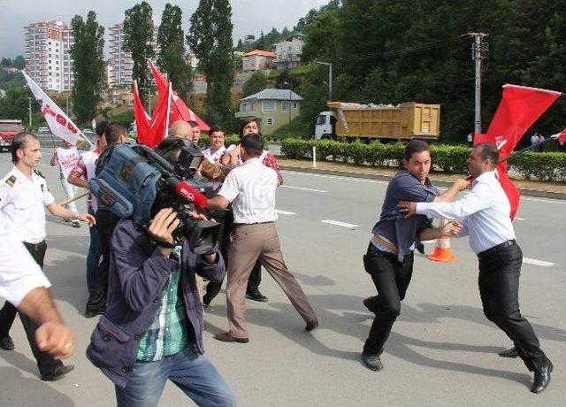
{"type": "Polygon", "coordinates": [[[74,43],[73,58],[73,106],[80,124],[96,116],[96,105],[102,100],[106,65],[103,59],[104,27],[96,22],[96,12],[88,12],[87,19],[76,15],[71,21],[74,43]]]}

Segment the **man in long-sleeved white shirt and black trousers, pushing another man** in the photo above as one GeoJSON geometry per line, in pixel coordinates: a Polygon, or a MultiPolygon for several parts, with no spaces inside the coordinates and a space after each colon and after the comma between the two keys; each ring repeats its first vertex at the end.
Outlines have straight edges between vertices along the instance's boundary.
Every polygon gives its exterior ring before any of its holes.
{"type": "Polygon", "coordinates": [[[458,219],[461,235],[470,235],[470,247],[479,260],[479,294],[487,319],[499,326],[514,342],[516,351],[534,371],[531,391],[539,393],[550,381],[552,362],[539,347],[531,324],[519,311],[519,275],[523,252],[515,240],[509,199],[497,180],[499,152],[494,144],[478,144],[468,158],[471,191],[454,203],[399,204],[410,216],[458,219]]]}

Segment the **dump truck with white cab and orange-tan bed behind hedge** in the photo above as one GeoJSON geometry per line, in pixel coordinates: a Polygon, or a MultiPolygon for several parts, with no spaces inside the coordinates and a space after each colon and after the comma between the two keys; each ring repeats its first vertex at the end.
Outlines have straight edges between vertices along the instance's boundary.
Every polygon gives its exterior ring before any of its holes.
{"type": "Polygon", "coordinates": [[[315,139],[356,138],[364,141],[438,140],[440,104],[352,104],[328,102],[318,114],[315,139]]]}

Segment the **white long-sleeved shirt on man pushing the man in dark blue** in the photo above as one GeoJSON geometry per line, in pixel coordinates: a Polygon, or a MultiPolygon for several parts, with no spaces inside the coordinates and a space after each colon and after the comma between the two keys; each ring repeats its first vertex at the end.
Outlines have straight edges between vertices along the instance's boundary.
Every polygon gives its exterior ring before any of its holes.
{"type": "Polygon", "coordinates": [[[464,227],[460,235],[470,234],[475,253],[515,239],[510,212],[509,199],[494,171],[481,174],[473,181],[471,191],[453,203],[417,204],[419,215],[460,221],[464,227]]]}

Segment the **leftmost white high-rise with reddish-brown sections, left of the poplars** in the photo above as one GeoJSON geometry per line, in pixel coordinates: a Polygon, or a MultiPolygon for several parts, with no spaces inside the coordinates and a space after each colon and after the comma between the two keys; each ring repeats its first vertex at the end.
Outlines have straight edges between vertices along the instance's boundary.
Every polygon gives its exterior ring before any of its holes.
{"type": "Polygon", "coordinates": [[[61,20],[42,21],[24,27],[26,73],[44,90],[73,88],[71,26],[61,20]]]}

